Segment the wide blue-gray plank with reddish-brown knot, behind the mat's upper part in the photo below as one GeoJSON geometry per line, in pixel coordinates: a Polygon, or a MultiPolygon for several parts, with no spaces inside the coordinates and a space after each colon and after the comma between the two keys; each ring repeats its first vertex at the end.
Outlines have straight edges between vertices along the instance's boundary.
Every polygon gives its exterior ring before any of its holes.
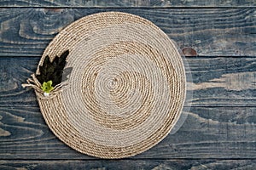
{"type": "Polygon", "coordinates": [[[205,56],[255,56],[255,8],[1,8],[0,56],[40,56],[62,28],[103,11],[140,15],[205,56]]]}

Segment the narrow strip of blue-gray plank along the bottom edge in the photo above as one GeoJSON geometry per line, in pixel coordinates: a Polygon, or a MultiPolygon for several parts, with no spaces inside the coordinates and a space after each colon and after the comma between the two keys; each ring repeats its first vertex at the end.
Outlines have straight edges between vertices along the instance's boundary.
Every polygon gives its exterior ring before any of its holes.
{"type": "Polygon", "coordinates": [[[255,160],[118,160],[118,161],[0,161],[1,169],[84,169],[84,170],[254,170],[255,160]]]}

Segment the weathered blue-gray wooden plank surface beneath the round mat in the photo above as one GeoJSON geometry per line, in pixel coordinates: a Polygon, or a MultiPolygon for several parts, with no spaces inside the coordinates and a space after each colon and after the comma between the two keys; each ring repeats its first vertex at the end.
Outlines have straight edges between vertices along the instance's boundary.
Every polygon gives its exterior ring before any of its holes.
{"type": "Polygon", "coordinates": [[[255,0],[0,1],[0,169],[256,169],[255,9],[255,0]],[[67,147],[21,88],[61,29],[102,11],[140,15],[196,51],[186,52],[194,97],[183,126],[123,160],[67,147]]]}

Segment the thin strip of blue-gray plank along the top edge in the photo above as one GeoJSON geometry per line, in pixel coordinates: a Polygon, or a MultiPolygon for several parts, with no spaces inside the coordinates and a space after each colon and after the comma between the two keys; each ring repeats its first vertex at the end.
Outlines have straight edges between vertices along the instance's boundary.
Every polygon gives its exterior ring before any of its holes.
{"type": "Polygon", "coordinates": [[[253,0],[5,0],[0,7],[254,7],[253,0]]]}

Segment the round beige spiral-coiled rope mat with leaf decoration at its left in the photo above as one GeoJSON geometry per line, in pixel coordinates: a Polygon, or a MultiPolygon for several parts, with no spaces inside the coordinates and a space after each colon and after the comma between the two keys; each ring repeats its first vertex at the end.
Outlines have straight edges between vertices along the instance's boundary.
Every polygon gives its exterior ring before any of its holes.
{"type": "Polygon", "coordinates": [[[102,158],[135,156],[158,144],[183,109],[183,60],[148,20],[119,12],[91,14],[62,30],[45,49],[69,50],[67,88],[38,94],[44,119],[75,150],[102,158]]]}

